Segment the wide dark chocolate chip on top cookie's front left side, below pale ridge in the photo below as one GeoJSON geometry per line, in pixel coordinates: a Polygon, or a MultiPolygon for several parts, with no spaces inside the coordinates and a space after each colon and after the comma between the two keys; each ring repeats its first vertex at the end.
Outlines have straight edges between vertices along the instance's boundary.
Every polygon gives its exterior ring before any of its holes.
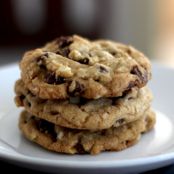
{"type": "Polygon", "coordinates": [[[65,83],[65,78],[64,77],[60,77],[60,76],[56,76],[54,72],[48,72],[45,75],[45,81],[48,84],[62,84],[65,83]]]}

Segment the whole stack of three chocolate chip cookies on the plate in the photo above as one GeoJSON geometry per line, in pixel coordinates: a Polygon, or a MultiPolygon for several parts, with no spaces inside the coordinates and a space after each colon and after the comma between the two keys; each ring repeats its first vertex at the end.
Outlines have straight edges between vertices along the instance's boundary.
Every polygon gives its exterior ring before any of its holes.
{"type": "Polygon", "coordinates": [[[61,153],[119,151],[155,124],[148,59],[107,40],[60,37],[20,62],[15,102],[24,136],[61,153]]]}

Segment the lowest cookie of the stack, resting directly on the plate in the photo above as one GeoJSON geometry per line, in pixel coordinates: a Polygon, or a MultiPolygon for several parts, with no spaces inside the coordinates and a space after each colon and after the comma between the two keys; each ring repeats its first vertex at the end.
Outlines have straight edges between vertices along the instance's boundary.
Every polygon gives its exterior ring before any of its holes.
{"type": "Polygon", "coordinates": [[[19,128],[24,136],[45,149],[68,154],[98,154],[120,151],[134,145],[141,134],[155,124],[155,113],[149,110],[141,119],[126,125],[100,131],[76,130],[56,126],[23,111],[19,128]]]}

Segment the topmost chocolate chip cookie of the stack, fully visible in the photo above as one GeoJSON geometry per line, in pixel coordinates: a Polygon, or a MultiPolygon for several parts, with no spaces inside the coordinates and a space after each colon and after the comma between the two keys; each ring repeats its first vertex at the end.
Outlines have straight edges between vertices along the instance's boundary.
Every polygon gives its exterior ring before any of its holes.
{"type": "Polygon", "coordinates": [[[43,99],[118,97],[151,77],[149,60],[133,47],[77,35],[27,52],[20,68],[25,85],[43,99]]]}

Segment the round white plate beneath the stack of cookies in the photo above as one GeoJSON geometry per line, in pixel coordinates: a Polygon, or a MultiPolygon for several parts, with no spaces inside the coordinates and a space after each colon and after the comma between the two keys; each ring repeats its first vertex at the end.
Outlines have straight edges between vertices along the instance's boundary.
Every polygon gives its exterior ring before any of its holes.
{"type": "Polygon", "coordinates": [[[121,152],[100,155],[63,155],[48,152],[25,140],[18,128],[20,110],[13,102],[13,86],[19,77],[17,65],[0,68],[0,158],[17,165],[47,172],[131,173],[174,163],[174,70],[153,66],[155,129],[140,142],[121,152]]]}

